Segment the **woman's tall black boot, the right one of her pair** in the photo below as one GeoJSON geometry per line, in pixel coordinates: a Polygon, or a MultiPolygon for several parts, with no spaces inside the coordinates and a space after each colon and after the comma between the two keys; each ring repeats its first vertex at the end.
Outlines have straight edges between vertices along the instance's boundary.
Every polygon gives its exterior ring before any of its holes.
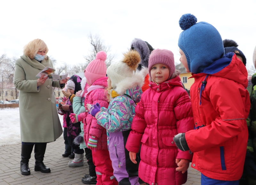
{"type": "Polygon", "coordinates": [[[42,173],[50,173],[51,169],[46,167],[43,163],[44,160],[44,153],[46,149],[46,144],[35,144],[35,171],[40,171],[42,173]]]}

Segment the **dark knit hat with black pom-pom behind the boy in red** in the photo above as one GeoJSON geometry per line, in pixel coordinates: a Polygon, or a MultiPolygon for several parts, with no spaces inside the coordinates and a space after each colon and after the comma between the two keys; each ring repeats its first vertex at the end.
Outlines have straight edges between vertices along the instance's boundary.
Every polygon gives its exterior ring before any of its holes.
{"type": "Polygon", "coordinates": [[[223,40],[223,45],[224,45],[225,54],[228,52],[233,52],[236,55],[239,55],[243,59],[242,62],[244,63],[244,66],[246,65],[246,58],[244,56],[244,53],[237,48],[238,44],[235,41],[231,39],[225,39],[223,40]]]}

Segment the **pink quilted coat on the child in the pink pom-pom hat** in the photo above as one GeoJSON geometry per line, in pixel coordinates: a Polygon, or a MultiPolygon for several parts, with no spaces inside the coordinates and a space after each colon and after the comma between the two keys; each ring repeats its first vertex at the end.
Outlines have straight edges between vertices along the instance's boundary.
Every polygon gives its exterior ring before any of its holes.
{"type": "MultiPolygon", "coordinates": [[[[106,96],[106,87],[108,86],[108,78],[100,78],[96,80],[93,85],[103,86],[104,88],[95,89],[87,94],[84,99],[84,105],[86,104],[96,104],[99,103],[100,107],[108,107],[108,100],[106,96]]],[[[97,150],[108,150],[107,145],[107,130],[97,124],[97,119],[95,119],[91,114],[87,112],[80,114],[84,123],[84,141],[87,145],[89,136],[95,136],[98,140],[97,150]]]]}

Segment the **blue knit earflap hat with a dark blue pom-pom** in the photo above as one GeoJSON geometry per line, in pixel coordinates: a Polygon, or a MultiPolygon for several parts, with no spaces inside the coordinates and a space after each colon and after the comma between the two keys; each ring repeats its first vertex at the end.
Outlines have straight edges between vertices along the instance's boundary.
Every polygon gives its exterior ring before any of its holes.
{"type": "Polygon", "coordinates": [[[184,52],[191,73],[201,73],[205,67],[223,57],[224,47],[218,30],[207,22],[197,22],[194,15],[181,16],[178,46],[184,52]]]}

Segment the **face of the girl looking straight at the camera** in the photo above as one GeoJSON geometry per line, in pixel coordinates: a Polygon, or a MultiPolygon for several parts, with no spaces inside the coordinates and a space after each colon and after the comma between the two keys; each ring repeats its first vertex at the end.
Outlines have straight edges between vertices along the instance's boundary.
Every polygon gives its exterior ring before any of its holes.
{"type": "Polygon", "coordinates": [[[169,77],[169,68],[164,64],[155,64],[151,67],[150,74],[156,83],[162,83],[169,77]]]}

